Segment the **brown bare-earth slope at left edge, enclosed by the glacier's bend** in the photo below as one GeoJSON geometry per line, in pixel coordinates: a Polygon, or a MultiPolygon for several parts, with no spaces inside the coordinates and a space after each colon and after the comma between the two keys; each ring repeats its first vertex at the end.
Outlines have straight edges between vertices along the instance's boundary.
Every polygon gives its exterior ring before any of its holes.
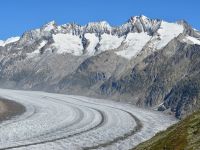
{"type": "Polygon", "coordinates": [[[11,100],[0,98],[0,123],[25,112],[25,107],[11,100]]]}

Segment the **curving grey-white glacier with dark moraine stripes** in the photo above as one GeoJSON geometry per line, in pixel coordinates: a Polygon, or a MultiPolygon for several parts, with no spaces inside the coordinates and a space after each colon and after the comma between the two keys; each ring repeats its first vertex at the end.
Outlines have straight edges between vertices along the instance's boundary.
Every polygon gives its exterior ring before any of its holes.
{"type": "Polygon", "coordinates": [[[82,96],[0,89],[0,97],[24,106],[23,114],[0,124],[0,150],[127,150],[177,122],[156,111],[82,96]]]}

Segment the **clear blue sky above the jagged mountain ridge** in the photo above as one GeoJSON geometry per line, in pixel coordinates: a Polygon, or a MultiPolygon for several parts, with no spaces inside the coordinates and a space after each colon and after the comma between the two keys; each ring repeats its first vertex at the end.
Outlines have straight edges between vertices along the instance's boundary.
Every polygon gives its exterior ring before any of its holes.
{"type": "Polygon", "coordinates": [[[200,0],[1,0],[0,39],[20,36],[55,20],[57,24],[106,20],[120,25],[131,16],[184,19],[200,29],[200,0]]]}

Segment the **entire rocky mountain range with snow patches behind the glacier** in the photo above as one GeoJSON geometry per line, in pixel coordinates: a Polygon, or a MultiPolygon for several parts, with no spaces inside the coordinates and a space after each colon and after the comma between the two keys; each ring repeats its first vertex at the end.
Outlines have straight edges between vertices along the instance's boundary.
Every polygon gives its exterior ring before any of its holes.
{"type": "Polygon", "coordinates": [[[199,58],[200,32],[185,21],[52,21],[0,41],[0,86],[111,98],[181,118],[200,108],[199,58]]]}

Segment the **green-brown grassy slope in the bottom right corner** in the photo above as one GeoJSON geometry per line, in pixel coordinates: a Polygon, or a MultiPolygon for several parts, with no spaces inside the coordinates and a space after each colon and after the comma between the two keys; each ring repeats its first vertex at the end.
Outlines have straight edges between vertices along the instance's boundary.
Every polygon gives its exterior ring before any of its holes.
{"type": "Polygon", "coordinates": [[[200,111],[158,133],[134,150],[200,150],[200,111]]]}

